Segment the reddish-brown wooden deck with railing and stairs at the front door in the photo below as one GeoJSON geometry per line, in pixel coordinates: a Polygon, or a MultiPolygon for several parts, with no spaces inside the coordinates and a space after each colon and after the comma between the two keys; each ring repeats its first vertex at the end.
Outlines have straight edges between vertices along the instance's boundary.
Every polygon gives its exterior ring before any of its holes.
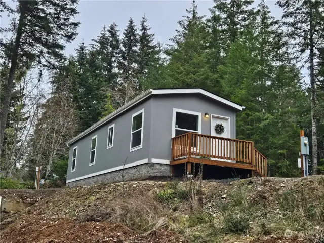
{"type": "Polygon", "coordinates": [[[267,175],[267,159],[254,148],[254,142],[204,134],[186,133],[172,138],[170,165],[181,163],[249,169],[252,176],[255,172],[267,175]]]}

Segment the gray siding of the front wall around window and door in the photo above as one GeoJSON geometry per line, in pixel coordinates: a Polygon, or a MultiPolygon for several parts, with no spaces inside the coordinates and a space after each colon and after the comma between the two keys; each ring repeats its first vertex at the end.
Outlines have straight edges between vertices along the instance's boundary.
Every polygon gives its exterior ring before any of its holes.
{"type": "Polygon", "coordinates": [[[152,98],[151,138],[149,158],[171,159],[173,108],[201,113],[201,133],[211,134],[211,115],[230,117],[231,138],[235,138],[235,110],[203,95],[179,94],[177,96],[154,96],[152,98]]]}

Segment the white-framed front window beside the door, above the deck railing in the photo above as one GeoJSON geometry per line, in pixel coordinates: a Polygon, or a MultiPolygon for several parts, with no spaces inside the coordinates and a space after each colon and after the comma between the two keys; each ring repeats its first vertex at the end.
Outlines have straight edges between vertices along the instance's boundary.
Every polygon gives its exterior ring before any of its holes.
{"type": "Polygon", "coordinates": [[[201,133],[201,113],[173,108],[172,137],[185,133],[201,133]]]}

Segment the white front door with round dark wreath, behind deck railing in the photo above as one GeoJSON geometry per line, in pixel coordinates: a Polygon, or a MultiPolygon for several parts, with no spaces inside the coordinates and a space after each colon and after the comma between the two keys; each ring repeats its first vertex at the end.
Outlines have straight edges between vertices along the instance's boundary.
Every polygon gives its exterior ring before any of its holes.
{"type": "MultiPolygon", "coordinates": [[[[211,136],[230,138],[230,118],[224,117],[224,116],[211,115],[211,136]],[[222,124],[224,126],[223,133],[216,133],[215,126],[217,126],[217,124],[222,124]]],[[[228,143],[227,146],[225,146],[226,145],[225,141],[212,138],[213,149],[212,149],[211,153],[215,156],[229,157],[229,149],[228,149],[229,142],[227,142],[227,143],[228,143]],[[215,147],[216,147],[216,150],[215,150],[215,147]],[[219,147],[219,149],[218,149],[218,147],[219,147]]],[[[217,160],[222,160],[222,161],[230,161],[227,159],[219,159],[219,158],[212,158],[212,159],[217,159],[217,160]]]]}

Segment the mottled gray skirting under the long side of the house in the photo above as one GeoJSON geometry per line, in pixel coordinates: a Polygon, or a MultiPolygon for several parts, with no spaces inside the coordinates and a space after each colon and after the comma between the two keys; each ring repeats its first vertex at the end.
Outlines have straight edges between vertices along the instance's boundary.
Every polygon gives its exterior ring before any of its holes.
{"type": "MultiPolygon", "coordinates": [[[[66,186],[89,186],[101,183],[121,182],[123,170],[116,170],[105,174],[91,176],[75,181],[69,181],[66,186]]],[[[124,181],[145,180],[155,176],[171,176],[171,166],[160,163],[145,163],[124,169],[124,181]]]]}

